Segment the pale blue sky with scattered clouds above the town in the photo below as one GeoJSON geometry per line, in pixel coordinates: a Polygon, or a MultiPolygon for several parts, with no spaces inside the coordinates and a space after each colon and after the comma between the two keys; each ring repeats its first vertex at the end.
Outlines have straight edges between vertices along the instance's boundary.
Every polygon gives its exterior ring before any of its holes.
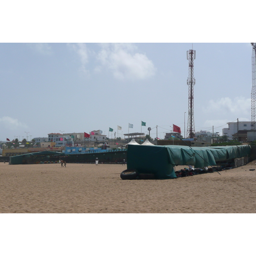
{"type": "Polygon", "coordinates": [[[184,130],[188,60],[194,61],[195,130],[221,132],[250,121],[250,43],[1,43],[0,140],[89,132],[119,134],[151,127],[163,138],[184,130]]]}

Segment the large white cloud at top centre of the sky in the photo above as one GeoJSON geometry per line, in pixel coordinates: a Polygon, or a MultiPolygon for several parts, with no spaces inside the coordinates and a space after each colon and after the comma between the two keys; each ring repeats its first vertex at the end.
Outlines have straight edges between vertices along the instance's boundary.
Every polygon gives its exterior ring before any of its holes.
{"type": "MultiPolygon", "coordinates": [[[[134,44],[100,44],[97,58],[102,67],[111,70],[116,79],[147,79],[156,68],[145,54],[135,52],[134,44]]],[[[100,67],[96,70],[99,72],[100,67]]]]}

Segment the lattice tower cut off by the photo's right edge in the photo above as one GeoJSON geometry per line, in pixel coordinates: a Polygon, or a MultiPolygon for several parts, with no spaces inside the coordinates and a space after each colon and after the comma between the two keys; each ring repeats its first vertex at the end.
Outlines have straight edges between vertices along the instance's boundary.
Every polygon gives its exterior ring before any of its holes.
{"type": "Polygon", "coordinates": [[[252,123],[251,128],[253,130],[256,129],[256,43],[251,43],[253,47],[252,53],[252,74],[253,74],[253,86],[252,86],[252,93],[251,93],[251,107],[252,107],[252,123]]]}

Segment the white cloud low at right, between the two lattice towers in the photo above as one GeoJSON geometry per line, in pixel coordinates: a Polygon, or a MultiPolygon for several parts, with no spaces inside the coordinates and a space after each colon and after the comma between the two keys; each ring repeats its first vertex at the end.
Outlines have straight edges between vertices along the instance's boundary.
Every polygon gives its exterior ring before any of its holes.
{"type": "Polygon", "coordinates": [[[211,99],[207,103],[207,107],[204,108],[204,112],[220,113],[222,115],[236,113],[237,116],[250,116],[251,99],[245,99],[244,97],[236,97],[235,99],[225,97],[216,101],[211,99]]]}

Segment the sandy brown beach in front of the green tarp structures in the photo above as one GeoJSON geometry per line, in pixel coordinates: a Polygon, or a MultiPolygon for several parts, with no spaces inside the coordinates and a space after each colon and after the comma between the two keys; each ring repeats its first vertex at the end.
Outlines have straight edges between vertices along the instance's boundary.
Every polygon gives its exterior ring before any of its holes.
{"type": "Polygon", "coordinates": [[[255,213],[255,163],[170,180],[122,180],[122,164],[0,163],[0,212],[255,213]]]}

